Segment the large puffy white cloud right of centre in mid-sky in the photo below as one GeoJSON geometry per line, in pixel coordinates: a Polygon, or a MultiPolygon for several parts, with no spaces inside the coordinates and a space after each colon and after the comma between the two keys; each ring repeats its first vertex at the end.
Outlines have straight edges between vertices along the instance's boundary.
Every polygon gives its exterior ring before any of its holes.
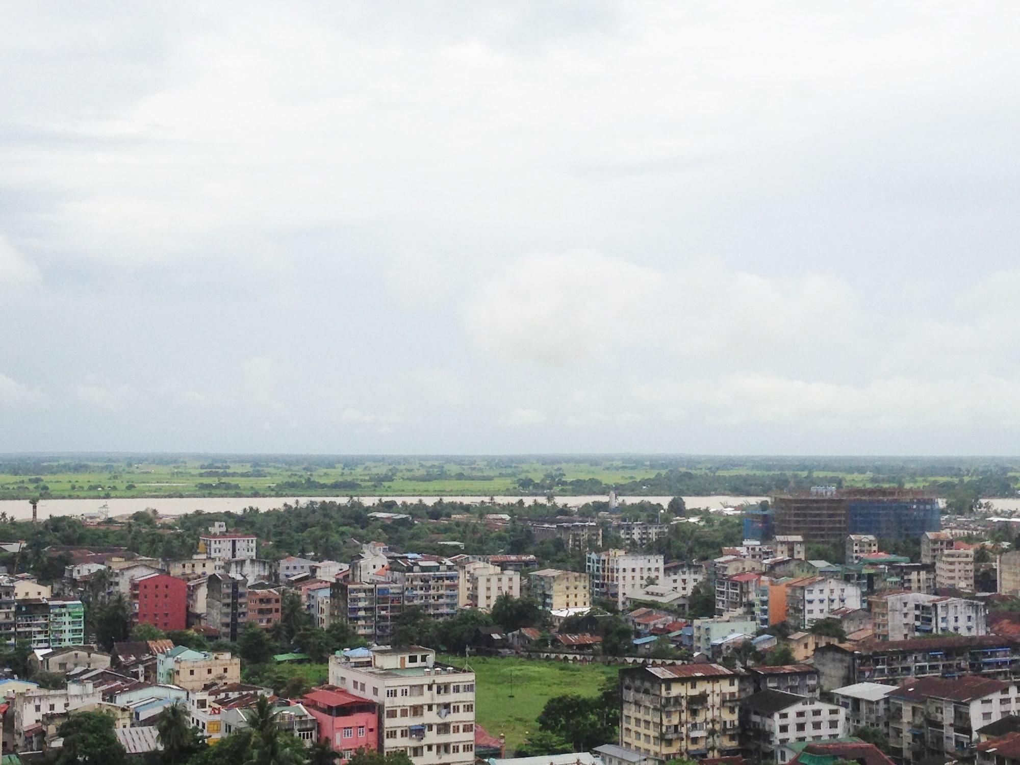
{"type": "Polygon", "coordinates": [[[482,280],[464,317],[478,347],[562,366],[627,349],[761,355],[770,343],[833,342],[855,312],[852,291],[831,276],[769,279],[711,262],[653,268],[575,251],[513,262],[482,280]]]}

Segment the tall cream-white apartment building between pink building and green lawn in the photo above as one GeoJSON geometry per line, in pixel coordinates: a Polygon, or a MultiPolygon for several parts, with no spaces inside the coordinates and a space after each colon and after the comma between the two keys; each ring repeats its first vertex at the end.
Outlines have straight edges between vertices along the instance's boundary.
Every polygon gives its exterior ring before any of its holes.
{"type": "Polygon", "coordinates": [[[329,657],[329,682],[380,705],[379,752],[414,765],[474,762],[474,672],[436,664],[419,646],[371,649],[371,666],[329,657]]]}

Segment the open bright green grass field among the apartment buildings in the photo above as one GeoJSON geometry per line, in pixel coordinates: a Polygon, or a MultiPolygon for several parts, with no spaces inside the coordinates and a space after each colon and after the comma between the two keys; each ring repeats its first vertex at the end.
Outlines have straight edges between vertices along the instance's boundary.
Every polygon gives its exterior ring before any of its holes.
{"type": "MultiPolygon", "coordinates": [[[[440,661],[464,666],[464,657],[441,656],[440,661]]],[[[595,696],[619,667],[604,664],[572,665],[553,661],[471,657],[474,670],[475,719],[495,736],[505,733],[507,753],[537,729],[536,718],[554,696],[595,696]],[[510,694],[513,693],[511,698],[510,694]]]]}

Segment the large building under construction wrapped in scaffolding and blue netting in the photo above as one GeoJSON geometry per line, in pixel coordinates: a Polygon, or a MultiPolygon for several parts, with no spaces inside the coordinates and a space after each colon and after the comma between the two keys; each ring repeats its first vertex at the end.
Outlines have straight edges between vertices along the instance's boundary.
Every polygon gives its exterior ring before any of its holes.
{"type": "Polygon", "coordinates": [[[914,489],[835,489],[772,498],[777,534],[799,533],[805,542],[843,545],[851,533],[879,539],[920,538],[937,531],[938,500],[914,489]]]}

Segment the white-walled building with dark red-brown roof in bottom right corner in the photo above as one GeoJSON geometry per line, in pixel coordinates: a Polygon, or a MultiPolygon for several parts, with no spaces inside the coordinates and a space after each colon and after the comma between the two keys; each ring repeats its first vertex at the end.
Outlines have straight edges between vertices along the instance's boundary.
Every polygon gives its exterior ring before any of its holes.
{"type": "Polygon", "coordinates": [[[959,757],[977,744],[975,730],[1017,712],[1013,682],[987,677],[924,677],[888,695],[889,748],[909,765],[959,757]]]}

